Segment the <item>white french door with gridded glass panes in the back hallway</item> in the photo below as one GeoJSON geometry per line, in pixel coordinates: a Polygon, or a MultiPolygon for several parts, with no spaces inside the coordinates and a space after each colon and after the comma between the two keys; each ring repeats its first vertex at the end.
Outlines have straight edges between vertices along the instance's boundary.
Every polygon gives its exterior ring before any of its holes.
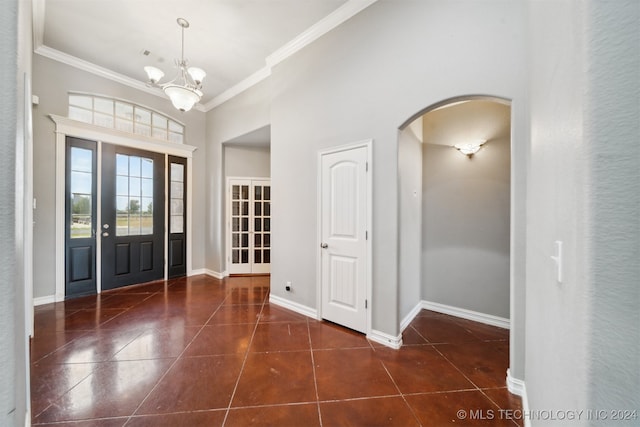
{"type": "Polygon", "coordinates": [[[227,272],[271,271],[271,182],[229,178],[227,192],[227,272]]]}

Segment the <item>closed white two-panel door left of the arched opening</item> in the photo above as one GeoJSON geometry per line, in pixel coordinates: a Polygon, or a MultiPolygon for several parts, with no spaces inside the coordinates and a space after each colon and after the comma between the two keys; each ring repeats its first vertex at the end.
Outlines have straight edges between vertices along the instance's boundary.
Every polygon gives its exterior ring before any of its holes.
{"type": "Polygon", "coordinates": [[[321,154],[321,317],[367,332],[368,147],[321,154]]]}

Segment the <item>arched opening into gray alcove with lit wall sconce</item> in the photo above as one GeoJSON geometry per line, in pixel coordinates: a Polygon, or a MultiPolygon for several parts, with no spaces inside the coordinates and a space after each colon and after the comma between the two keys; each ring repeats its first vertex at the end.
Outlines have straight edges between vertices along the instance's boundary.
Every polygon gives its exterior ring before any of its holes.
{"type": "Polygon", "coordinates": [[[398,150],[401,329],[421,309],[509,328],[510,101],[430,105],[400,127],[398,150]],[[479,151],[454,147],[467,143],[479,151]]]}

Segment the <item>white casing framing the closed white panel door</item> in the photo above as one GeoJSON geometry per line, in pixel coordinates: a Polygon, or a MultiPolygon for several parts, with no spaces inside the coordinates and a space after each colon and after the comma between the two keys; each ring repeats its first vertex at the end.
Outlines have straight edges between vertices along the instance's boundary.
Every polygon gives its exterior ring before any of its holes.
{"type": "Polygon", "coordinates": [[[328,147],[318,151],[318,171],[317,171],[317,189],[316,189],[316,318],[322,320],[322,158],[327,154],[349,151],[357,148],[367,149],[367,204],[366,209],[366,298],[367,298],[367,327],[365,334],[369,336],[372,330],[372,312],[373,312],[373,139],[364,139],[349,144],[328,147]]]}

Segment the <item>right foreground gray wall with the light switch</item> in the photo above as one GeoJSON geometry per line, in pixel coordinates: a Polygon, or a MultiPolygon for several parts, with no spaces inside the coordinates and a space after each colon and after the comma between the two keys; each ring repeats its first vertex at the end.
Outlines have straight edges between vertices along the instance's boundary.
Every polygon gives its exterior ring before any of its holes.
{"type": "Polygon", "coordinates": [[[640,3],[532,1],[529,11],[529,405],[637,410],[640,3]]]}

